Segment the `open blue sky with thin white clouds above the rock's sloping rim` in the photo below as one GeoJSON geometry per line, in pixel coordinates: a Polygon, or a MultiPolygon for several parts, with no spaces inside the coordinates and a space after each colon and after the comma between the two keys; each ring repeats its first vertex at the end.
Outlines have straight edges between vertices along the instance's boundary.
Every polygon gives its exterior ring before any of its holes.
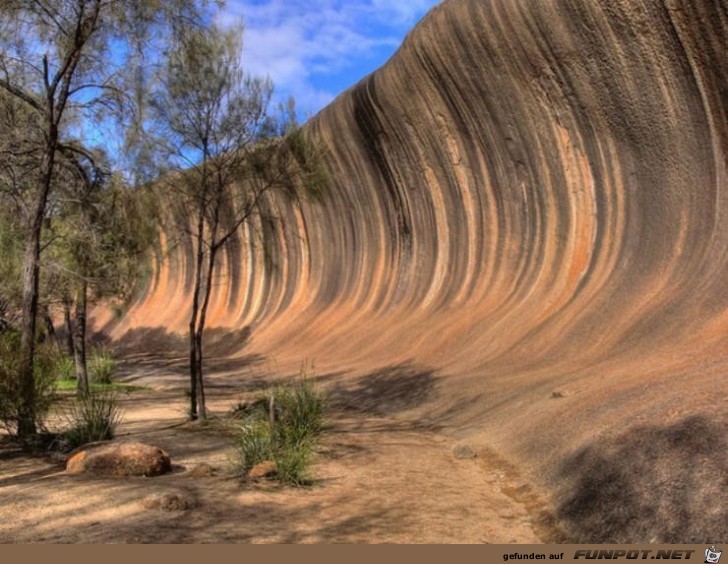
{"type": "Polygon", "coordinates": [[[382,66],[439,0],[227,0],[222,23],[242,20],[243,63],[268,75],[276,99],[314,114],[382,66]]]}

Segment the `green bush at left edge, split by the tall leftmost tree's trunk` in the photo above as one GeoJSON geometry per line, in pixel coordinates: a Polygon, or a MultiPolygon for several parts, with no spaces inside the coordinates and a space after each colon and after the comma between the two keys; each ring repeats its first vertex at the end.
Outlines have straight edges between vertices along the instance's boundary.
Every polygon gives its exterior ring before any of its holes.
{"type": "MultiPolygon", "coordinates": [[[[55,399],[55,365],[59,355],[58,348],[50,343],[36,347],[33,411],[39,427],[43,427],[45,416],[55,399]]],[[[20,333],[4,331],[0,334],[0,425],[12,436],[17,433],[22,405],[20,365],[20,333]]]]}

